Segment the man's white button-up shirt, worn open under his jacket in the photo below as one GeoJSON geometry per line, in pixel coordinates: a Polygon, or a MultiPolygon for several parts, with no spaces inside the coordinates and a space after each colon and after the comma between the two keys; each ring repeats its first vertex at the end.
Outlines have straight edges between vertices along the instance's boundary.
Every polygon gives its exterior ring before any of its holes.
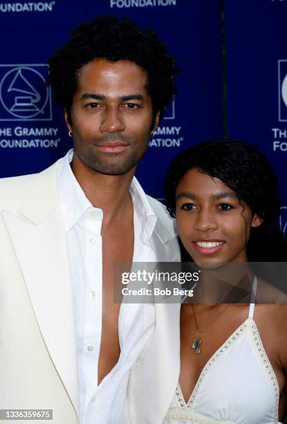
{"type": "MultiPolygon", "coordinates": [[[[124,304],[118,321],[120,358],[98,386],[98,359],[102,331],[102,219],[101,209],[93,207],[75,179],[69,150],[59,165],[59,198],[64,215],[68,261],[71,272],[77,365],[82,424],[128,424],[127,380],[136,355],[136,340],[145,346],[154,331],[154,306],[124,304]],[[131,328],[132,324],[132,328],[131,328]],[[129,337],[126,337],[129,333],[129,337]],[[131,355],[131,351],[133,355],[131,355]],[[115,413],[115,417],[111,418],[115,413]],[[111,419],[113,421],[111,421],[111,419]],[[118,420],[118,421],[116,421],[118,420]]],[[[133,178],[133,262],[155,262],[150,238],[156,214],[133,178]]]]}

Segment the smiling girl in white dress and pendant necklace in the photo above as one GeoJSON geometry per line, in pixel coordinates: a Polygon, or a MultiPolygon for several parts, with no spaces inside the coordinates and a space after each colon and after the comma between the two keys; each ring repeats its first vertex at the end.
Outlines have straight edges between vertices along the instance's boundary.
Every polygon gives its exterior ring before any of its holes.
{"type": "MultiPolygon", "coordinates": [[[[180,153],[165,195],[202,275],[220,264],[287,261],[275,173],[252,145],[207,142],[180,153]]],[[[182,304],[180,376],[165,424],[284,421],[286,295],[248,272],[256,297],[268,288],[274,303],[220,303],[219,296],[182,304]]],[[[201,284],[203,277],[198,290],[201,284]]]]}

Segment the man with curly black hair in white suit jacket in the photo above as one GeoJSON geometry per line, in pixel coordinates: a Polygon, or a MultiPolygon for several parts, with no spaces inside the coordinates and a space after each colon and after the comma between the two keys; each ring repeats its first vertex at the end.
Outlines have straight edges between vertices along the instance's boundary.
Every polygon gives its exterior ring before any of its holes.
{"type": "Polygon", "coordinates": [[[178,260],[172,220],[133,177],[177,67],[154,33],[108,16],[78,26],[49,65],[74,150],[0,183],[0,408],[127,424],[129,372],[155,319],[113,302],[113,267],[178,260]]]}

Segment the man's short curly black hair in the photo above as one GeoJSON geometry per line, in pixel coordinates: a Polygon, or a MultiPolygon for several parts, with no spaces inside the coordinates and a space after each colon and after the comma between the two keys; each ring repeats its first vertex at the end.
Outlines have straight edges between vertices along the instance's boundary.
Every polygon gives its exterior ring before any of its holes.
{"type": "Polygon", "coordinates": [[[71,39],[48,60],[47,84],[55,101],[62,105],[71,121],[73,95],[78,89],[77,74],[95,58],[110,62],[129,60],[147,73],[147,91],[151,96],[154,118],[164,112],[176,94],[174,78],[178,73],[176,60],[167,53],[152,30],[141,30],[127,17],[105,15],[80,24],[71,31],[71,39]]]}

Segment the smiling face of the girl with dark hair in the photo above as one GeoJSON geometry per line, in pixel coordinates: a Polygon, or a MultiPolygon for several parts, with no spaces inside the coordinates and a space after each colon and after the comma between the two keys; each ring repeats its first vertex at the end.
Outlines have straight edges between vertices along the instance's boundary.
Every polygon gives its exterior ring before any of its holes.
{"type": "Polygon", "coordinates": [[[201,266],[247,262],[250,228],[262,222],[221,179],[195,168],[176,188],[176,221],[185,249],[201,266]]]}

